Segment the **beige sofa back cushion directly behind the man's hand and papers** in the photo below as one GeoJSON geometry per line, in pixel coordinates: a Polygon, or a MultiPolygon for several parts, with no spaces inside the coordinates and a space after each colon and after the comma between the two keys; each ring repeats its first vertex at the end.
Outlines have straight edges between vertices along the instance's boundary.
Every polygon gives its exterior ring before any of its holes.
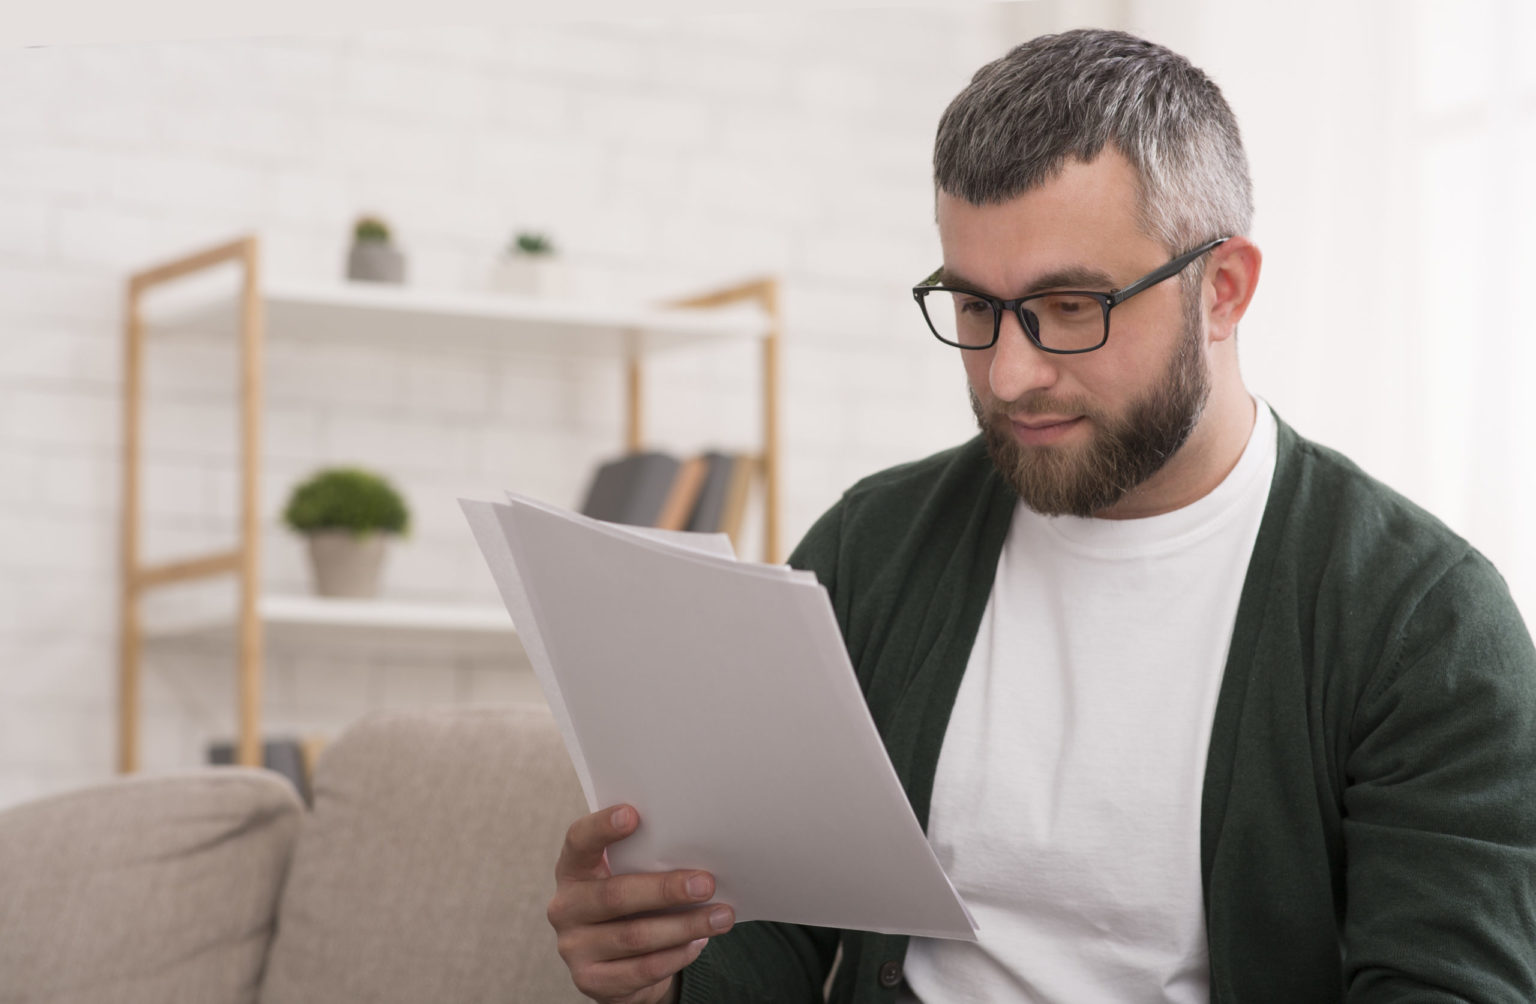
{"type": "Polygon", "coordinates": [[[587,811],[548,709],[370,715],[313,794],[263,1004],[584,999],[544,916],[587,811]]]}

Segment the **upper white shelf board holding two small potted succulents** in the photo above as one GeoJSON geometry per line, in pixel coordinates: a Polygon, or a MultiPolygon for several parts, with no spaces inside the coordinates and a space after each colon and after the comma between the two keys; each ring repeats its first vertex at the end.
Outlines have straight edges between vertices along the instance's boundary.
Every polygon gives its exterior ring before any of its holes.
{"type": "MultiPolygon", "coordinates": [[[[750,305],[651,307],[382,282],[270,279],[261,289],[270,335],[406,339],[558,355],[622,355],[676,345],[760,339],[768,316],[750,305]]],[[[144,304],[151,332],[233,332],[229,289],[167,289],[144,304]]]]}

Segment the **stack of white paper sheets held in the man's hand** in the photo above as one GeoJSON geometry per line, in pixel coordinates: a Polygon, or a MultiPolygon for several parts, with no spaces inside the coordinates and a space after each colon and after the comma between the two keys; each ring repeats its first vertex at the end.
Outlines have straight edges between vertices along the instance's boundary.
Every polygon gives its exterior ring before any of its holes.
{"type": "Polygon", "coordinates": [[[588,804],[641,811],[616,872],[708,869],[742,921],[975,938],[814,576],[516,497],[464,508],[516,580],[502,597],[588,804]]]}

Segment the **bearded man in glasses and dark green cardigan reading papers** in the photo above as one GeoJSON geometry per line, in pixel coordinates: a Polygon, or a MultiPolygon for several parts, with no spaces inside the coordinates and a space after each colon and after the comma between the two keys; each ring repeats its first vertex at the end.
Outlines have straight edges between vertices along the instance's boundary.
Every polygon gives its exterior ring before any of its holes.
{"type": "Polygon", "coordinates": [[[731,930],[708,874],[608,875],[621,806],[556,867],[578,987],[817,1001],[840,947],[833,1001],[1536,999],[1536,652],[1476,551],[1243,385],[1261,256],[1215,84],[1037,38],[934,169],[914,296],[982,434],[791,563],[980,941],[731,930]]]}

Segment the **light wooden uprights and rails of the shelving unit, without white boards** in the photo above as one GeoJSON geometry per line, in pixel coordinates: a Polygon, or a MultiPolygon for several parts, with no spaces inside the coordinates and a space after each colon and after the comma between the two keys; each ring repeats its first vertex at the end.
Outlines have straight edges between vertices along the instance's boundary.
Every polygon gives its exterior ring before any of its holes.
{"type": "MultiPolygon", "coordinates": [[[[779,537],[779,282],[773,278],[742,282],[668,304],[677,309],[720,309],[754,305],[765,318],[762,341],[762,453],[754,457],[763,491],[763,557],[780,560],[779,537]]],[[[129,276],[124,310],[123,381],[123,519],[121,519],[121,599],[118,671],[118,769],[138,769],[141,656],[144,646],[143,597],[174,583],[233,574],[240,583],[237,636],[237,715],[235,761],[261,763],[263,694],[263,597],[261,597],[261,424],[263,424],[263,347],[266,342],[266,301],[261,282],[261,244],[247,235],[209,247],[129,276]],[[144,411],[144,298],[161,287],[209,269],[238,264],[243,270],[237,304],[240,339],[240,533],[233,550],[174,562],[146,565],[140,553],[143,516],[143,411],[144,411]]],[[[645,444],[645,339],[627,338],[625,391],[627,416],[624,442],[630,450],[645,444]]],[[[508,350],[515,352],[515,350],[508,350]]]]}

